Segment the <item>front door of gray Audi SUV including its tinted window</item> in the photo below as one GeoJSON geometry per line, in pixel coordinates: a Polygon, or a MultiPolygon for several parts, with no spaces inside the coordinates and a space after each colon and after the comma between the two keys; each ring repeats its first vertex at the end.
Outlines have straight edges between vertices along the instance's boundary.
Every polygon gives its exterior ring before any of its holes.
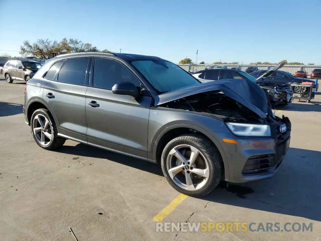
{"type": "Polygon", "coordinates": [[[120,62],[95,59],[92,86],[86,92],[88,144],[146,159],[152,97],[113,94],[112,86],[123,81],[141,88],[138,78],[120,62]]]}

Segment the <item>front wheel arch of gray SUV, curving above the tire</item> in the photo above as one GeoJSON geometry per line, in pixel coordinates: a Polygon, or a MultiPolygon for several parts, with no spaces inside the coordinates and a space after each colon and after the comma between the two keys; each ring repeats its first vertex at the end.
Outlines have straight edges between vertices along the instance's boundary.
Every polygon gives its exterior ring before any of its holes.
{"type": "MultiPolygon", "coordinates": [[[[228,165],[228,161],[227,161],[227,157],[225,156],[224,150],[221,147],[220,143],[209,133],[206,132],[206,130],[199,128],[197,126],[194,125],[181,125],[181,124],[174,124],[172,126],[169,126],[165,129],[163,129],[159,135],[157,136],[155,142],[153,143],[153,159],[156,160],[156,163],[160,163],[160,159],[161,159],[161,154],[162,151],[164,149],[164,147],[167,145],[167,143],[180,136],[180,135],[184,135],[184,134],[189,134],[189,133],[197,133],[201,136],[203,136],[206,139],[209,139],[213,145],[218,149],[218,152],[220,153],[223,163],[222,163],[222,167],[223,167],[223,177],[224,179],[226,178],[226,175],[229,175],[229,165],[228,165]]],[[[229,176],[228,176],[229,178],[229,176]]]]}

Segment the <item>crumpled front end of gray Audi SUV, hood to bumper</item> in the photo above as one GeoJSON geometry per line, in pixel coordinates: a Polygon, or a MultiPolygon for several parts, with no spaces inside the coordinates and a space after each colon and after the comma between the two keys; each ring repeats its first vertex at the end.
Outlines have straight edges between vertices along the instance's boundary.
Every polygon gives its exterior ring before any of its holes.
{"type": "Polygon", "coordinates": [[[160,95],[159,106],[217,120],[212,133],[230,166],[226,181],[242,183],[273,176],[290,145],[291,121],[273,114],[260,86],[246,79],[224,79],[179,91],[176,97],[160,95]]]}

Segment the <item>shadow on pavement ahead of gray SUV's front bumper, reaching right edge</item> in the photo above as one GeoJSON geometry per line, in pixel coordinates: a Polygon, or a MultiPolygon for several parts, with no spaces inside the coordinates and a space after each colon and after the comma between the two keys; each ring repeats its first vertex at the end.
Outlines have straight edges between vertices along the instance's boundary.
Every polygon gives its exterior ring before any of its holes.
{"type": "Polygon", "coordinates": [[[290,148],[272,178],[228,187],[224,183],[203,199],[321,221],[320,160],[319,151],[290,148]]]}

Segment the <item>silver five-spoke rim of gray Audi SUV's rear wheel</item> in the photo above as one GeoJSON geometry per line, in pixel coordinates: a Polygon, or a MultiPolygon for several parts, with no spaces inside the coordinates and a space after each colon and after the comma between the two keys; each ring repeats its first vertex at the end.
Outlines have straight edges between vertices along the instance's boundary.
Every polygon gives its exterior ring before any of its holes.
{"type": "Polygon", "coordinates": [[[37,114],[32,122],[32,131],[37,141],[42,146],[48,146],[52,142],[52,126],[47,117],[42,114],[37,114]]]}

